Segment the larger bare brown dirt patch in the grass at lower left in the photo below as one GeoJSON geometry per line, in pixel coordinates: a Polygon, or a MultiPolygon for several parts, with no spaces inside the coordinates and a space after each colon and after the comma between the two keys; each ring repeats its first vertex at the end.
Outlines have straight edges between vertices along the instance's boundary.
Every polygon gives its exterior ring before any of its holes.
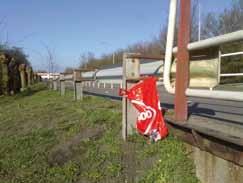
{"type": "Polygon", "coordinates": [[[86,150],[79,147],[82,141],[97,140],[101,138],[104,133],[104,128],[86,128],[75,135],[69,141],[63,144],[58,144],[53,147],[48,155],[48,163],[50,166],[62,166],[72,158],[74,158],[76,151],[84,153],[86,150]],[[78,147],[78,148],[77,148],[78,147]]]}

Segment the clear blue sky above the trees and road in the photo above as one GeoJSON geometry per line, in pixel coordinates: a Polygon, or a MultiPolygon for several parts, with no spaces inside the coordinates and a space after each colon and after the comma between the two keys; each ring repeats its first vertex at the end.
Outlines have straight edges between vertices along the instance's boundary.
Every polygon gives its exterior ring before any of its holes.
{"type": "MultiPolygon", "coordinates": [[[[203,14],[219,13],[231,1],[200,0],[203,14]]],[[[22,47],[35,70],[47,70],[48,48],[61,71],[77,67],[83,53],[100,57],[152,40],[168,9],[169,0],[4,0],[0,41],[22,47]]]]}

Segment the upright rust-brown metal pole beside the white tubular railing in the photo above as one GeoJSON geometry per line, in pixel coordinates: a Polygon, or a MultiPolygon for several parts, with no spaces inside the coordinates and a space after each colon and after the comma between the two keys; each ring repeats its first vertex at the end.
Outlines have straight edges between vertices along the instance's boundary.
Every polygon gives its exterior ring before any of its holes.
{"type": "Polygon", "coordinates": [[[190,61],[187,45],[190,41],[190,24],[191,0],[181,0],[175,88],[176,121],[186,121],[188,118],[188,105],[185,92],[187,87],[189,86],[190,61]]]}

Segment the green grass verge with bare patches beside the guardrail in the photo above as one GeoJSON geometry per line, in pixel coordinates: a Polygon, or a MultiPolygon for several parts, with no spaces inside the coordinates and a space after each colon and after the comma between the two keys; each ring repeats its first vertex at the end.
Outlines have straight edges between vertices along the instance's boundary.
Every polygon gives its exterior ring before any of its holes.
{"type": "Polygon", "coordinates": [[[155,144],[139,135],[122,141],[118,101],[76,102],[72,92],[61,97],[36,85],[0,97],[0,139],[0,183],[125,182],[126,153],[133,155],[135,182],[198,182],[172,136],[155,144]],[[129,143],[134,148],[124,147],[129,143]]]}

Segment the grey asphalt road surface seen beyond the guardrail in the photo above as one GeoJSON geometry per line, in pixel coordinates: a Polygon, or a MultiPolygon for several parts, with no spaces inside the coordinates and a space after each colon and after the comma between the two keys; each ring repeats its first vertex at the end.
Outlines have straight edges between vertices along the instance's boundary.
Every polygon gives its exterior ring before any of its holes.
{"type": "MultiPolygon", "coordinates": [[[[163,86],[159,86],[160,101],[162,107],[173,109],[174,96],[167,93],[163,86]]],[[[104,97],[121,99],[118,96],[118,88],[93,88],[85,87],[84,91],[104,97]]],[[[243,95],[243,93],[242,93],[243,95]]],[[[189,116],[199,116],[205,121],[229,123],[243,127],[243,102],[216,100],[199,97],[189,97],[189,116]]]]}

